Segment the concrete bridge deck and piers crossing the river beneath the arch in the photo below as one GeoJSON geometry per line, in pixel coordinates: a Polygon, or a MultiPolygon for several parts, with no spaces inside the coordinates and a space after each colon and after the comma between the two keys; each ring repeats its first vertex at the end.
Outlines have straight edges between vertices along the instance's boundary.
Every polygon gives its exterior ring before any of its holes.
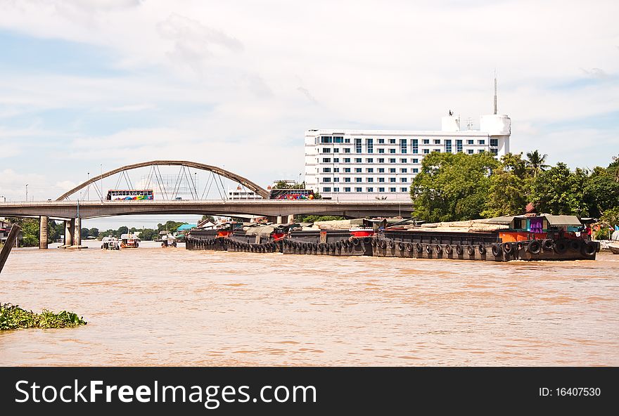
{"type": "Polygon", "coordinates": [[[47,248],[47,220],[65,220],[65,247],[81,245],[82,219],[101,216],[136,214],[250,214],[277,217],[299,214],[364,216],[408,216],[411,202],[388,200],[348,201],[333,200],[120,200],[0,202],[0,216],[40,217],[40,245],[47,248]]]}

